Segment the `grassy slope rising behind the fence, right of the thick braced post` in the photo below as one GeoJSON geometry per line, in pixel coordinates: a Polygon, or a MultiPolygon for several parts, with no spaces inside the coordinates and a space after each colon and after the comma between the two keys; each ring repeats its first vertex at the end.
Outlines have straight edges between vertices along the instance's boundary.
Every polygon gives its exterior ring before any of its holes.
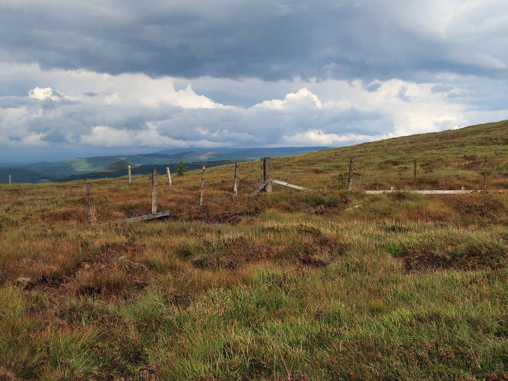
{"type": "MultiPolygon", "coordinates": [[[[487,123],[460,130],[412,135],[377,142],[276,158],[274,169],[284,168],[280,177],[306,183],[316,176],[328,186],[347,180],[354,157],[354,187],[357,189],[412,188],[417,161],[417,189],[482,189],[485,159],[488,186],[508,188],[508,121],[487,123]],[[305,170],[307,169],[307,171],[305,170]]],[[[284,178],[281,178],[284,180],[284,178]]]]}

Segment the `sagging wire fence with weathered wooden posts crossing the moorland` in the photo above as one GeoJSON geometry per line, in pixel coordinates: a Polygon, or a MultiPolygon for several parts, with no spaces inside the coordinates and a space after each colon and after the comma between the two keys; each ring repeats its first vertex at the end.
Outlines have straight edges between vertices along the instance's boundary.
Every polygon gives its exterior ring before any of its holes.
{"type": "MultiPolygon", "coordinates": [[[[234,166],[213,167],[206,173],[189,171],[188,176],[174,177],[171,183],[162,174],[155,186],[151,175],[131,177],[130,184],[128,177],[33,186],[0,184],[0,230],[33,225],[76,228],[154,214],[154,210],[178,209],[182,204],[199,207],[214,199],[233,197],[236,179],[238,195],[248,195],[267,178],[259,164],[242,163],[236,174],[234,166]]],[[[270,177],[320,193],[392,187],[508,189],[508,160],[344,161],[333,165],[316,161],[305,167],[292,165],[285,165],[284,158],[278,158],[270,177]]]]}

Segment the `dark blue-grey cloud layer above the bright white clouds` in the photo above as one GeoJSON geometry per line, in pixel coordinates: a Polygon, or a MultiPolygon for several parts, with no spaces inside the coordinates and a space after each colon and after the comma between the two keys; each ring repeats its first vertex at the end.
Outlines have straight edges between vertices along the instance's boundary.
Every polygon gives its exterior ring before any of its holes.
{"type": "MultiPolygon", "coordinates": [[[[504,70],[503,56],[490,55],[505,54],[495,37],[503,26],[479,30],[469,44],[463,41],[464,16],[443,38],[425,28],[430,16],[424,12],[434,3],[411,9],[413,3],[9,0],[0,5],[6,36],[0,49],[4,59],[38,62],[44,69],[151,76],[410,79],[421,71],[504,70]],[[408,20],[408,12],[423,14],[408,20]],[[481,45],[487,37],[493,41],[481,45]],[[466,51],[471,58],[462,56],[466,51]]],[[[468,17],[471,26],[480,23],[468,17]]]]}

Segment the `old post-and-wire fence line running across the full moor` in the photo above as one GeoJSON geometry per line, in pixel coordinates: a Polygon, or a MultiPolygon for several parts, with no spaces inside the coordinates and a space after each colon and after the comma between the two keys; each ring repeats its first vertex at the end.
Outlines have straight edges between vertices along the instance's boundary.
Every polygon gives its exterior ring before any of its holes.
{"type": "MultiPolygon", "coordinates": [[[[283,160],[283,159],[280,159],[283,160]]],[[[121,214],[121,210],[114,210],[112,208],[105,208],[107,205],[117,204],[117,203],[125,203],[131,201],[139,201],[151,198],[151,213],[155,214],[158,207],[164,207],[166,203],[172,202],[182,202],[185,199],[172,200],[173,196],[184,196],[190,197],[191,200],[194,200],[194,196],[196,197],[196,206],[203,205],[204,202],[210,201],[216,197],[220,197],[223,195],[231,195],[236,196],[237,194],[250,194],[253,193],[257,188],[262,190],[266,190],[266,192],[270,192],[269,186],[271,186],[272,182],[276,184],[282,184],[286,186],[291,186],[293,188],[302,189],[302,186],[295,185],[289,183],[296,182],[298,184],[299,180],[303,180],[304,185],[307,185],[308,179],[313,179],[317,183],[314,183],[314,187],[327,187],[330,186],[332,189],[349,189],[349,190],[360,190],[375,187],[379,189],[379,187],[394,187],[396,184],[397,187],[401,187],[400,189],[413,189],[417,190],[419,188],[425,188],[429,186],[437,186],[444,187],[448,190],[439,191],[440,193],[447,193],[451,189],[450,187],[455,186],[462,189],[462,193],[471,192],[471,188],[476,187],[476,189],[486,190],[489,181],[493,186],[501,186],[503,188],[508,188],[508,160],[454,160],[454,161],[446,161],[446,162],[437,162],[437,163],[429,163],[429,162],[402,162],[402,161],[383,161],[383,162],[355,162],[353,159],[350,162],[335,162],[334,165],[328,168],[291,168],[291,163],[288,167],[284,167],[283,165],[277,163],[277,165],[272,166],[270,158],[265,158],[263,161],[263,167],[258,166],[259,163],[246,163],[240,165],[237,164],[234,167],[234,171],[225,172],[225,169],[211,168],[206,169],[207,176],[205,178],[205,168],[203,168],[203,173],[201,178],[189,178],[184,179],[180,177],[175,177],[172,179],[173,181],[169,183],[170,177],[168,177],[168,183],[160,183],[156,184],[156,173],[153,173],[151,176],[142,175],[131,177],[131,180],[147,180],[151,179],[151,184],[144,185],[143,182],[138,185],[131,185],[126,187],[119,188],[110,188],[108,190],[101,189],[93,189],[98,185],[108,186],[109,184],[128,180],[126,177],[116,178],[116,179],[105,179],[98,181],[90,181],[86,180],[86,182],[78,182],[73,184],[55,184],[55,185],[43,185],[43,186],[33,186],[33,187],[20,187],[9,186],[5,189],[0,189],[0,199],[4,198],[4,200],[9,196],[6,192],[12,192],[13,195],[17,195],[18,191],[31,191],[34,190],[37,192],[41,189],[47,188],[76,188],[82,186],[83,188],[87,187],[86,194],[83,192],[84,189],[79,190],[79,194],[76,195],[65,195],[58,197],[38,197],[38,198],[26,198],[26,199],[16,199],[16,200],[5,200],[0,201],[0,205],[6,206],[9,205],[5,209],[5,214],[0,214],[0,229],[2,228],[10,228],[10,227],[22,227],[22,226],[30,226],[30,225],[50,225],[62,223],[62,220],[47,220],[45,218],[48,217],[48,214],[53,211],[66,211],[66,210],[76,210],[75,213],[69,214],[65,213],[63,217],[66,217],[66,221],[69,221],[69,224],[73,226],[80,225],[90,225],[96,221],[98,221],[98,215],[102,215],[105,217],[105,220],[111,220],[118,213],[121,214]],[[462,165],[458,165],[457,168],[434,168],[435,165],[442,165],[443,163],[462,163],[462,165]],[[338,166],[336,164],[344,164],[343,166],[338,166]],[[349,164],[347,166],[346,164],[349,164]],[[369,168],[368,164],[383,164],[383,165],[397,165],[402,168],[369,168]],[[244,168],[244,166],[248,166],[248,170],[240,171],[240,166],[244,168]],[[503,168],[505,167],[505,168],[503,168]],[[263,169],[263,175],[261,175],[261,170],[263,169]],[[277,179],[272,179],[272,170],[274,171],[274,176],[277,179]],[[279,177],[277,175],[277,171],[284,170],[286,176],[279,177]],[[295,175],[291,176],[291,172],[294,171],[304,171],[307,172],[308,175],[300,176],[295,175]],[[410,171],[410,172],[409,172],[410,171]],[[409,176],[409,173],[412,176],[409,176]],[[454,173],[452,173],[454,172],[454,173]],[[390,174],[390,176],[383,176],[383,173],[390,174]],[[398,176],[396,175],[398,173],[398,176]],[[430,173],[436,173],[435,176],[429,175],[430,173]],[[345,175],[347,174],[347,178],[345,175]],[[379,175],[374,175],[379,174],[379,175]],[[393,174],[393,175],[392,175],[393,174]],[[210,176],[211,175],[211,176],[210,176]],[[230,179],[230,181],[225,181],[224,179],[230,179]],[[220,182],[217,180],[221,179],[220,182]],[[268,179],[268,181],[267,181],[268,179]],[[176,180],[176,181],[175,181],[176,180]],[[201,186],[199,181],[201,180],[201,186]],[[263,181],[265,180],[265,181],[263,181]],[[284,181],[282,181],[284,180],[284,181]],[[369,182],[373,180],[372,182],[369,182]],[[263,183],[259,185],[261,182],[263,183]],[[391,182],[391,184],[390,184],[391,182]],[[462,184],[461,184],[462,182],[462,184]],[[192,184],[196,183],[196,184],[192,184]],[[317,185],[316,185],[317,184],[317,185]],[[469,186],[469,190],[465,190],[464,185],[469,186]],[[140,194],[140,190],[144,188],[152,188],[151,194],[140,194]],[[158,188],[158,189],[157,189],[158,188]],[[207,192],[207,189],[210,189],[211,192],[207,192]],[[213,189],[213,190],[212,190],[213,189]],[[128,194],[125,194],[128,193],[128,194]],[[110,196],[111,195],[111,196],[110,196]],[[157,204],[157,197],[159,203],[157,204]],[[199,202],[198,202],[199,200],[199,202]],[[37,203],[39,202],[51,202],[52,205],[47,205],[46,207],[40,207],[36,210],[30,210],[29,208],[37,208],[37,203]],[[69,205],[68,203],[75,203],[75,205],[69,205]],[[67,205],[66,205],[67,203],[67,205]],[[27,206],[30,205],[30,206],[27,206]],[[93,206],[93,208],[92,208],[93,206]],[[96,207],[98,209],[96,209],[96,207]],[[24,209],[24,210],[23,210],[24,209]],[[11,213],[8,213],[11,211],[11,213]],[[42,221],[30,221],[25,222],[26,219],[34,217],[42,218],[42,221]],[[22,217],[20,217],[22,216],[22,217]],[[11,218],[11,217],[20,217],[11,218]],[[79,222],[83,221],[83,222],[79,222]]],[[[242,168],[242,169],[243,169],[242,168]]],[[[198,175],[198,171],[189,171],[194,176],[198,175]]],[[[307,185],[308,186],[308,185],[307,185]]],[[[492,185],[491,185],[492,186],[492,185]]],[[[305,189],[305,188],[303,188],[305,189]]],[[[376,190],[377,190],[376,189],[376,190]]],[[[419,190],[419,192],[427,192],[425,189],[419,190]]],[[[35,196],[35,195],[34,195],[35,196]]],[[[193,201],[192,201],[193,202],[193,201]]],[[[133,206],[139,206],[139,210],[145,208],[145,203],[135,203],[133,206]]],[[[174,204],[173,204],[174,205],[174,204]]],[[[147,212],[150,211],[149,204],[146,205],[147,212]]],[[[58,217],[60,215],[49,215],[49,217],[58,217]]]]}

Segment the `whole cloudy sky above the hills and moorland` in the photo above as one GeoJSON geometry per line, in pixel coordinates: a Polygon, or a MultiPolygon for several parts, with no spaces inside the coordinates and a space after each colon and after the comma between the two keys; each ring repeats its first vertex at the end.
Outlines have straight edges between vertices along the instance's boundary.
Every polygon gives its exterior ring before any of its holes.
{"type": "Polygon", "coordinates": [[[0,162],[508,119],[506,0],[0,0],[0,162]]]}

